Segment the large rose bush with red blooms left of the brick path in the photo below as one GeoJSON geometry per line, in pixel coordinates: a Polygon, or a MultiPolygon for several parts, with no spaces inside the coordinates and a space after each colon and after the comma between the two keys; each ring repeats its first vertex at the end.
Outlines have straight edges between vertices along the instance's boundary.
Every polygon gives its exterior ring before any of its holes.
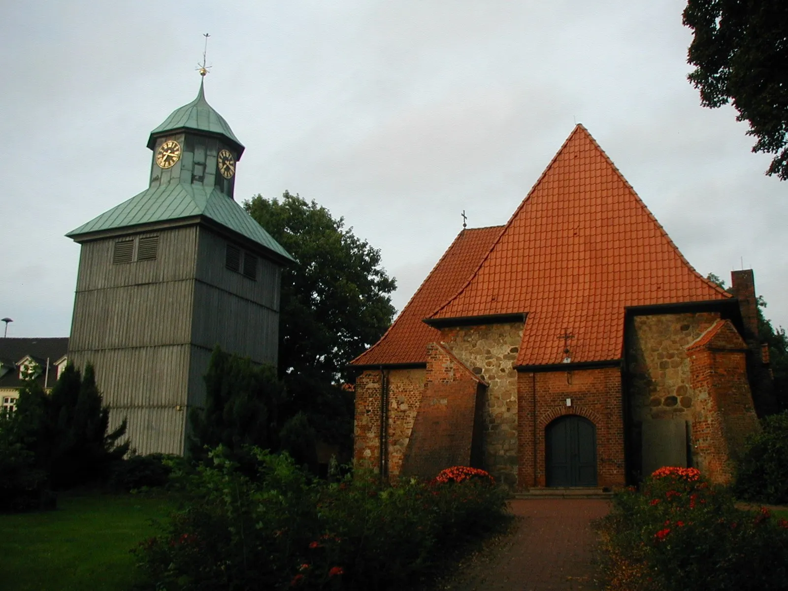
{"type": "Polygon", "coordinates": [[[252,448],[249,475],[219,448],[173,480],[183,508],[137,549],[156,588],[390,589],[504,522],[489,481],[316,481],[286,454],[252,448]]]}

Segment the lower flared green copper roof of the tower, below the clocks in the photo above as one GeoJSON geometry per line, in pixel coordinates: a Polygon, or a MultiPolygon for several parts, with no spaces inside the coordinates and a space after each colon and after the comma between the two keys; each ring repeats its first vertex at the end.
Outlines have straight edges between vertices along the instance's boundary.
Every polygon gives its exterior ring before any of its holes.
{"type": "Polygon", "coordinates": [[[262,244],[277,255],[292,260],[284,247],[273,240],[243,207],[217,188],[209,190],[199,184],[176,182],[151,186],[99,217],[80,225],[66,236],[76,240],[77,236],[91,232],[195,216],[208,217],[225,228],[262,244]]]}

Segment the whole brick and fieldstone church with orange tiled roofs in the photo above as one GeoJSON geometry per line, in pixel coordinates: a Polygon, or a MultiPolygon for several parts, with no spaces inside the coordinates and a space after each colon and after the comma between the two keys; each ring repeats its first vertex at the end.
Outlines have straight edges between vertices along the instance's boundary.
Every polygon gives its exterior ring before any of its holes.
{"type": "Polygon", "coordinates": [[[352,362],[355,466],[515,490],[663,465],[728,481],[774,409],[751,270],[702,277],[577,125],[502,226],[463,229],[352,362]]]}

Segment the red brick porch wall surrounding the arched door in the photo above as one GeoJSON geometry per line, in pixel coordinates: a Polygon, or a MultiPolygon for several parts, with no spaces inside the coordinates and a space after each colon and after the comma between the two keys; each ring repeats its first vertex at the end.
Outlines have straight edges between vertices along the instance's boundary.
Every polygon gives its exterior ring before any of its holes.
{"type": "Polygon", "coordinates": [[[521,372],[518,392],[519,489],[545,486],[545,429],[564,414],[585,417],[597,429],[598,485],[625,483],[621,370],[618,367],[521,372]],[[571,399],[571,407],[567,407],[567,398],[571,399]]]}

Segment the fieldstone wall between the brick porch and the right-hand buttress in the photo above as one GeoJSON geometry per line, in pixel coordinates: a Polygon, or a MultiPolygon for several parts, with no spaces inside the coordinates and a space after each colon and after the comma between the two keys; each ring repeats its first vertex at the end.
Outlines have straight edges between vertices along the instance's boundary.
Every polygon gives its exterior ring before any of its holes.
{"type": "Polygon", "coordinates": [[[686,466],[696,392],[686,347],[719,319],[717,312],[636,316],[626,331],[632,469],[686,466]]]}

